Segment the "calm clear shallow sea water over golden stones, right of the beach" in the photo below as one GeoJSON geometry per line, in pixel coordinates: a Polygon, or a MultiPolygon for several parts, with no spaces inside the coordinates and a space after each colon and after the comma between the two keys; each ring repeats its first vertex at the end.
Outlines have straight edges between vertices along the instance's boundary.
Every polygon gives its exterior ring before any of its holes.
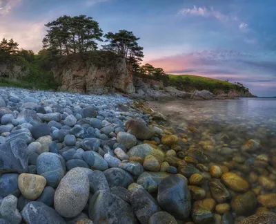
{"type": "MultiPolygon", "coordinates": [[[[206,191],[206,198],[228,204],[219,207],[228,206],[236,220],[261,211],[276,212],[276,99],[149,104],[168,116],[171,132],[181,138],[182,151],[177,157],[186,156],[187,164],[181,165],[197,168],[204,176],[204,183],[198,186],[206,191]],[[203,156],[208,162],[201,164],[203,156]],[[227,192],[230,198],[224,200],[227,192]]],[[[180,173],[186,169],[178,167],[180,173]]],[[[202,200],[196,202],[204,203],[202,200]]]]}

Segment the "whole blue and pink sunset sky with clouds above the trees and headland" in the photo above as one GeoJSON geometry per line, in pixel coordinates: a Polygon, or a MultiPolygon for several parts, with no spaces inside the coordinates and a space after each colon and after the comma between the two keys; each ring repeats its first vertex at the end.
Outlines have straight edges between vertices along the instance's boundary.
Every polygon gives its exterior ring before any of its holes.
{"type": "Polygon", "coordinates": [[[41,49],[44,24],[88,15],[104,33],[140,37],[144,63],[166,73],[242,82],[276,96],[275,0],[0,0],[0,39],[41,49]]]}

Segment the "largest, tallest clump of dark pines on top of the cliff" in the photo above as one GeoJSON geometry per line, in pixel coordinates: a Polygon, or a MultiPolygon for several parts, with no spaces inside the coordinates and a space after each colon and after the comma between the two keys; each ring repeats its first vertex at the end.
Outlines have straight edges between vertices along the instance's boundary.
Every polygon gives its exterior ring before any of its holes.
{"type": "Polygon", "coordinates": [[[55,55],[69,55],[97,49],[97,41],[103,41],[99,23],[79,15],[70,17],[64,15],[45,25],[47,35],[43,38],[43,48],[47,48],[55,55]]]}

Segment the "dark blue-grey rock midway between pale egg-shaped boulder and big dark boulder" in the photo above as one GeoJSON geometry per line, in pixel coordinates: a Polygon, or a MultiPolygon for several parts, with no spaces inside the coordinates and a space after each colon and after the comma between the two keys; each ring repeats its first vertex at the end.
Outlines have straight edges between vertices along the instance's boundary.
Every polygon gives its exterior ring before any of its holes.
{"type": "Polygon", "coordinates": [[[128,188],[134,182],[132,176],[121,168],[110,168],[103,172],[108,180],[109,187],[121,186],[128,188]]]}

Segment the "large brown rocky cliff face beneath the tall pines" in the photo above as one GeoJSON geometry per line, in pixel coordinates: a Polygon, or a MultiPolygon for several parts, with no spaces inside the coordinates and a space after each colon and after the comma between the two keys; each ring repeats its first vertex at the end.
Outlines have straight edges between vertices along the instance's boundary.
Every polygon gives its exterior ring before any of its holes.
{"type": "Polygon", "coordinates": [[[60,91],[104,94],[109,91],[134,93],[132,71],[124,58],[95,50],[61,58],[52,68],[60,91]]]}

